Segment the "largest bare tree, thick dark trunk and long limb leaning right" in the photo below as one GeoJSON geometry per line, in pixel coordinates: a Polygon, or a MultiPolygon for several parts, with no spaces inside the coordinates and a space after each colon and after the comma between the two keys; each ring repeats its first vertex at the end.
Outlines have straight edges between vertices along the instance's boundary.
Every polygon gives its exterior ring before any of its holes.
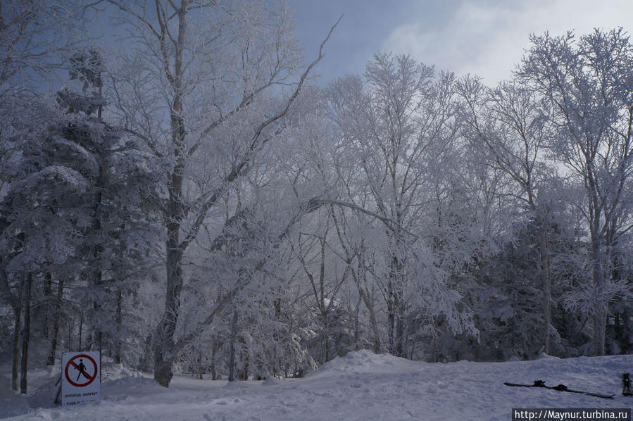
{"type": "MultiPolygon", "coordinates": [[[[320,58],[299,70],[289,8],[251,1],[156,1],[130,5],[108,0],[132,29],[134,57],[114,81],[127,129],[165,162],[165,306],[155,335],[154,378],[168,387],[186,337],[177,336],[183,258],[209,212],[281,129],[280,119],[320,58]],[[294,78],[293,78],[294,77],[294,78]],[[284,100],[272,94],[287,91],[284,100]],[[244,120],[242,120],[244,119],[244,120]],[[223,138],[233,127],[233,136],[223,138]],[[203,189],[192,180],[196,154],[215,151],[203,189]]],[[[333,29],[333,28],[332,28],[333,29]]],[[[331,33],[331,31],[330,31],[331,33]]],[[[329,34],[328,34],[329,37],[329,34]]],[[[327,37],[326,37],[327,41],[327,37]]],[[[325,42],[324,42],[325,44],[325,42]]],[[[230,300],[218,301],[207,320],[230,300]]]]}

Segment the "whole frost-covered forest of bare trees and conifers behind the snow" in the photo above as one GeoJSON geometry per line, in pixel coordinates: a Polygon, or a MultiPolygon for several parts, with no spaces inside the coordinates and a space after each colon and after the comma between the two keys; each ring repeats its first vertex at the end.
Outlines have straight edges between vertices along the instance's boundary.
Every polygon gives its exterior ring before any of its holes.
{"type": "Polygon", "coordinates": [[[212,379],[337,356],[629,353],[633,45],[532,34],[487,86],[408,55],[320,84],[291,5],[0,8],[0,355],[212,379]],[[90,33],[106,22],[109,44],[90,33]]]}

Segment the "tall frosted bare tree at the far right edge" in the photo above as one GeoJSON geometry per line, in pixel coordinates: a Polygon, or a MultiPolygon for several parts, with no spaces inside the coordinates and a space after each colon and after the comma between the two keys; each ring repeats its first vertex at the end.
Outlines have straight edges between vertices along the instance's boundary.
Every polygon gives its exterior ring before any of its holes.
{"type": "Polygon", "coordinates": [[[611,254],[631,215],[633,50],[621,28],[531,41],[518,75],[549,101],[553,149],[584,189],[579,211],[589,231],[591,285],[581,301],[594,321],[596,355],[603,355],[608,302],[620,289],[611,254]]]}

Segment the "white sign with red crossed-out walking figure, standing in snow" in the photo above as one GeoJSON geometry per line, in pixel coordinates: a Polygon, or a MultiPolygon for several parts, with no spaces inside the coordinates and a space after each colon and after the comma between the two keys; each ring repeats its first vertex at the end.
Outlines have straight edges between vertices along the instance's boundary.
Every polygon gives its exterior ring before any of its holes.
{"type": "Polygon", "coordinates": [[[99,401],[99,352],[65,352],[61,358],[61,405],[99,401]]]}

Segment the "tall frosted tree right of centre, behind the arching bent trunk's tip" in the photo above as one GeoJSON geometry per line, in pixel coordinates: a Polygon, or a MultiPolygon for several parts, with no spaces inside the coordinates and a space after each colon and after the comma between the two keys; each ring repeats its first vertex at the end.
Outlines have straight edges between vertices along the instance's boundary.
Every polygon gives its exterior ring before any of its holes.
{"type": "Polygon", "coordinates": [[[376,279],[387,306],[387,347],[396,356],[404,356],[406,316],[420,307],[425,315],[446,311],[463,327],[460,312],[451,309],[458,294],[445,289],[425,245],[413,247],[433,167],[456,139],[453,82],[453,75],[435,77],[432,67],[409,56],[375,54],[364,79],[347,77],[330,87],[341,151],[358,168],[347,200],[364,200],[363,206],[393,222],[384,231],[384,258],[377,264],[383,269],[376,279]]]}

